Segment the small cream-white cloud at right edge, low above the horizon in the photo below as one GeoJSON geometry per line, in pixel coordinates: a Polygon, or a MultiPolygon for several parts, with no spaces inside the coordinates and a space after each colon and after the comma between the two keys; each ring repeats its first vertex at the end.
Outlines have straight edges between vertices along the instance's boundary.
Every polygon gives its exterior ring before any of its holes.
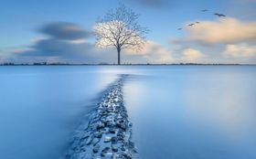
{"type": "Polygon", "coordinates": [[[233,58],[251,58],[256,55],[256,47],[246,43],[229,44],[226,46],[224,54],[233,58]]]}

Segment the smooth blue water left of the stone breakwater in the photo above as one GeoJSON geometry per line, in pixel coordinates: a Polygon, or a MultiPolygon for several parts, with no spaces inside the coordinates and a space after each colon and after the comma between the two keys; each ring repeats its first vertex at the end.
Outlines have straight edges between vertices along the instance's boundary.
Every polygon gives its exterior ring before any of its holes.
{"type": "Polygon", "coordinates": [[[54,159],[116,77],[99,67],[1,67],[0,158],[54,159]]]}

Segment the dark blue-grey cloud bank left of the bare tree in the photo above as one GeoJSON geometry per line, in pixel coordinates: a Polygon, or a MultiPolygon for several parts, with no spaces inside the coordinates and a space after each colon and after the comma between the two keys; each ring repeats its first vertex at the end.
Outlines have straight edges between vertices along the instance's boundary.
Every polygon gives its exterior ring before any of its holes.
{"type": "MultiPolygon", "coordinates": [[[[41,60],[70,63],[97,63],[103,60],[100,58],[102,52],[87,42],[91,32],[81,26],[56,22],[40,27],[38,32],[47,37],[38,38],[33,45],[26,48],[15,49],[13,52],[16,58],[25,61],[29,59],[27,62],[41,60]]],[[[110,62],[109,59],[105,57],[102,62],[110,62]]]]}

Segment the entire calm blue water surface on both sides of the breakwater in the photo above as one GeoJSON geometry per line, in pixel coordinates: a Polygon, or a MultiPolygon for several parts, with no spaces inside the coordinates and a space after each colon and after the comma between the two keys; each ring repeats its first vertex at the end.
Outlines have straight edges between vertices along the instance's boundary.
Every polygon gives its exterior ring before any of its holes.
{"type": "Polygon", "coordinates": [[[59,158],[121,73],[141,158],[256,158],[251,66],[0,67],[0,158],[59,158]]]}

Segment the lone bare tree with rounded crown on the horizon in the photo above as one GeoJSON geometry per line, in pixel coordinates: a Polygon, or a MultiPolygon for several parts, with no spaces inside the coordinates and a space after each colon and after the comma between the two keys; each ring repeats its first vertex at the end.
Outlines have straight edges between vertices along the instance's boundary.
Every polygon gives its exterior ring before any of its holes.
{"type": "Polygon", "coordinates": [[[132,9],[120,4],[114,10],[109,10],[94,27],[96,45],[100,48],[116,48],[118,65],[121,63],[121,50],[126,48],[139,51],[144,47],[148,29],[139,25],[138,17],[132,9]]]}

